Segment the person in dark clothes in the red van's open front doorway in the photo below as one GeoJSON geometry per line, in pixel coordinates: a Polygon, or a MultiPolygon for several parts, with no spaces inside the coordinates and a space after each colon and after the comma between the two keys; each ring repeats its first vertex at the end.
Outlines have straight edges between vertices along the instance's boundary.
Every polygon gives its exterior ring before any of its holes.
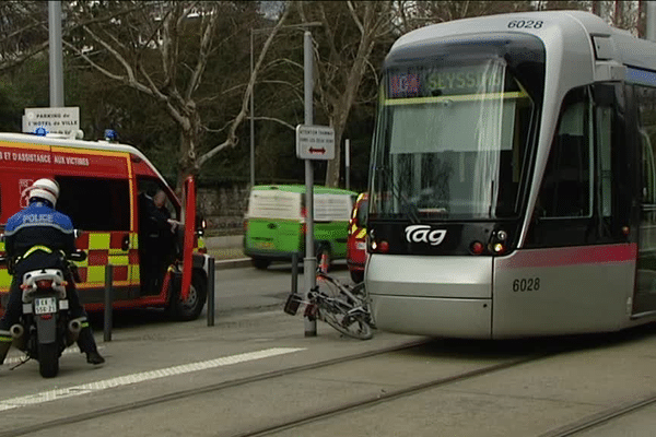
{"type": "Polygon", "coordinates": [[[139,194],[139,248],[141,282],[145,295],[160,294],[166,269],[175,259],[175,233],[180,225],[165,205],[166,193],[159,189],[151,198],[139,194]]]}

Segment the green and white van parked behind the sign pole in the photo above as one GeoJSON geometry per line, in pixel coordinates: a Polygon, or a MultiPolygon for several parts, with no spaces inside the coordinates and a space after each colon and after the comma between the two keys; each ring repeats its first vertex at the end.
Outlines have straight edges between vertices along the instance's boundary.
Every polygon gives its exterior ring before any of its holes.
{"type": "MultiPolygon", "coordinates": [[[[315,253],[328,269],[347,257],[348,226],[358,193],[340,188],[314,187],[315,253]]],[[[304,185],[260,185],[250,190],[244,218],[244,253],[257,269],[272,261],[305,256],[307,209],[304,185]]]]}

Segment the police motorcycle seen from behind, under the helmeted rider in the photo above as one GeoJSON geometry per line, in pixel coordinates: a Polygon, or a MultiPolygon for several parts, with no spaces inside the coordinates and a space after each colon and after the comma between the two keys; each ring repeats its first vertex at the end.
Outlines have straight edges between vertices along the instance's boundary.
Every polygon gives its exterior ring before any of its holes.
{"type": "MultiPolygon", "coordinates": [[[[81,281],[71,261],[85,259],[86,252],[82,250],[67,259],[75,282],[81,281]]],[[[0,263],[7,262],[7,258],[0,258],[0,263]]],[[[14,347],[23,351],[27,359],[38,361],[38,370],[44,378],[57,376],[59,357],[78,340],[82,329],[83,318],[70,317],[66,285],[65,272],[59,269],[38,269],[23,274],[21,322],[10,328],[14,347]]]]}

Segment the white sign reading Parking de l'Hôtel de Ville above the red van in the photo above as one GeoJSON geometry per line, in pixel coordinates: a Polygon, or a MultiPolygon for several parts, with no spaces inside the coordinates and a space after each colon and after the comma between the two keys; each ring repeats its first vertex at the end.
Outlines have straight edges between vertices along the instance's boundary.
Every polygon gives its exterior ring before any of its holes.
{"type": "Polygon", "coordinates": [[[80,130],[80,108],[25,108],[23,132],[58,133],[75,137],[80,130]]]}

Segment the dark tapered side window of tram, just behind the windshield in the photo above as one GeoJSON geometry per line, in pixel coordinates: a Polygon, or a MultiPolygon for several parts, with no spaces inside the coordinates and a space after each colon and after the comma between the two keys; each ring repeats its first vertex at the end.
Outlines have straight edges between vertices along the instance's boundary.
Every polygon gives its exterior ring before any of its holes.
{"type": "Polygon", "coordinates": [[[593,184],[589,107],[584,90],[570,92],[563,102],[540,188],[540,217],[590,216],[593,184]]]}

